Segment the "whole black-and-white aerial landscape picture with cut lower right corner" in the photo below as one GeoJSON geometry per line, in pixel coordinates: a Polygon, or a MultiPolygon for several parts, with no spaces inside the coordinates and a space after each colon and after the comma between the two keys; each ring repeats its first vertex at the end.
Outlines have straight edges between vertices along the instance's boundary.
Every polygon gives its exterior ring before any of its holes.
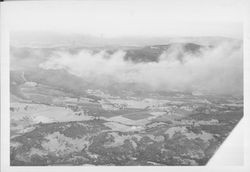
{"type": "Polygon", "coordinates": [[[9,3],[11,167],[206,166],[246,115],[242,3],[9,3]]]}

